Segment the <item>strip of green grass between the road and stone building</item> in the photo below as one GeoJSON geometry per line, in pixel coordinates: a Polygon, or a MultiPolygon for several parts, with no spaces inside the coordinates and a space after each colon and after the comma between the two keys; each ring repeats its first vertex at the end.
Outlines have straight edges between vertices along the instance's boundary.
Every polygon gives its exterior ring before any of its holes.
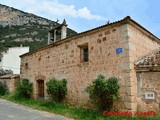
{"type": "Polygon", "coordinates": [[[3,99],[28,106],[34,109],[47,111],[54,114],[60,114],[76,120],[159,120],[160,117],[119,117],[119,116],[102,116],[101,112],[91,109],[71,107],[65,103],[47,102],[42,100],[33,100],[26,98],[18,98],[13,94],[2,97],[3,99]]]}

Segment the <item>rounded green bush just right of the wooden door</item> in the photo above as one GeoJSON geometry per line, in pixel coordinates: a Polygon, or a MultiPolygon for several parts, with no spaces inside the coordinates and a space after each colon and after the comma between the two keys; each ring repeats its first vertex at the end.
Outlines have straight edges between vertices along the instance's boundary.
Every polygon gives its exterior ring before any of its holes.
{"type": "Polygon", "coordinates": [[[67,94],[67,81],[57,80],[55,78],[49,80],[47,83],[47,93],[51,96],[55,102],[62,102],[67,94]]]}

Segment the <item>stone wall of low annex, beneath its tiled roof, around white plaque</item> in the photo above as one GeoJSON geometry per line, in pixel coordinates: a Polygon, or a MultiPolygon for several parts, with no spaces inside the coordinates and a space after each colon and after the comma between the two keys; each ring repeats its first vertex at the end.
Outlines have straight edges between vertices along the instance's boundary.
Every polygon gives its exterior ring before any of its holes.
{"type": "Polygon", "coordinates": [[[160,72],[137,73],[138,110],[157,111],[160,106],[160,72]],[[155,99],[145,99],[145,93],[154,93],[155,99]]]}

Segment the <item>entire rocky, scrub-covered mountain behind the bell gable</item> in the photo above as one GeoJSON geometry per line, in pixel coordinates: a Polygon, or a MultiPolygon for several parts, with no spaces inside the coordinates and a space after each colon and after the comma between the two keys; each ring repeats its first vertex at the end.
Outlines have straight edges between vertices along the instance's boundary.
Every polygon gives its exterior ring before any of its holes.
{"type": "MultiPolygon", "coordinates": [[[[47,44],[48,30],[59,23],[0,4],[0,51],[30,46],[30,51],[47,44]]],[[[77,34],[68,28],[67,37],[77,34]]]]}

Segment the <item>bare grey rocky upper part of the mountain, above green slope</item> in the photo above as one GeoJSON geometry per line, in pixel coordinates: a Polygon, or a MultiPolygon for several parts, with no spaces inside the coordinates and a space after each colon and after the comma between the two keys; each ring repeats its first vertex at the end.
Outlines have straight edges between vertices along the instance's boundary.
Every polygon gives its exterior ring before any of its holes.
{"type": "Polygon", "coordinates": [[[26,13],[0,4],[0,25],[3,27],[30,25],[30,23],[37,23],[41,25],[57,24],[56,22],[36,16],[32,13],[26,13]]]}

